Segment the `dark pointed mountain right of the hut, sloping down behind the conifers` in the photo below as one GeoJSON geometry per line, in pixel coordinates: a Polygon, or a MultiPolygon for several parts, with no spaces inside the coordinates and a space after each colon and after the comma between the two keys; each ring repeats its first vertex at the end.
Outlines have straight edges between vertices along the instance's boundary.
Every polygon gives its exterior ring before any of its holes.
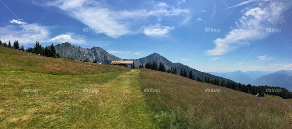
{"type": "Polygon", "coordinates": [[[187,70],[187,73],[189,74],[189,71],[192,70],[195,78],[197,78],[197,76],[200,76],[201,78],[207,78],[207,77],[210,77],[210,79],[215,79],[215,78],[218,78],[219,80],[225,80],[225,82],[227,81],[232,81],[232,80],[229,80],[229,79],[226,79],[224,77],[220,77],[220,76],[214,76],[210,73],[204,73],[204,72],[201,72],[199,70],[195,70],[193,68],[190,68],[189,66],[187,65],[184,65],[182,63],[172,63],[171,61],[169,61],[168,59],[166,59],[165,57],[159,55],[158,53],[153,53],[149,56],[146,56],[146,57],[143,57],[143,58],[139,58],[139,59],[130,59],[130,60],[133,60],[134,61],[134,64],[136,66],[139,66],[140,64],[146,64],[147,61],[149,62],[153,62],[153,60],[155,62],[157,62],[157,64],[159,64],[160,62],[163,63],[165,65],[165,68],[166,70],[169,69],[171,66],[172,67],[176,67],[177,69],[177,74],[179,74],[179,71],[182,69],[186,69],[187,70]]]}

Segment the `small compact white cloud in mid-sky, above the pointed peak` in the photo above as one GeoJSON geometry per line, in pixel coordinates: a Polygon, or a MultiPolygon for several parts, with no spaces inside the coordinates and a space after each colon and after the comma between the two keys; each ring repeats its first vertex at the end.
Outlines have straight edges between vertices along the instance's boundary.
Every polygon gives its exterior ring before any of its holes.
{"type": "Polygon", "coordinates": [[[144,29],[147,36],[167,36],[170,30],[175,29],[173,26],[161,26],[160,24],[148,26],[144,29]]]}

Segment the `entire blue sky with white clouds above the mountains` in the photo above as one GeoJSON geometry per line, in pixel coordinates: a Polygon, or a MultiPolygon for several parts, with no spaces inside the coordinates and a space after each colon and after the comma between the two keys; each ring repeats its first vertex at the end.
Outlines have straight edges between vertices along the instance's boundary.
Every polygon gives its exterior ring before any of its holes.
{"type": "MultiPolygon", "coordinates": [[[[205,72],[292,70],[289,0],[1,0],[0,39],[159,53],[205,72]]],[[[291,14],[291,15],[290,15],[291,14]]]]}

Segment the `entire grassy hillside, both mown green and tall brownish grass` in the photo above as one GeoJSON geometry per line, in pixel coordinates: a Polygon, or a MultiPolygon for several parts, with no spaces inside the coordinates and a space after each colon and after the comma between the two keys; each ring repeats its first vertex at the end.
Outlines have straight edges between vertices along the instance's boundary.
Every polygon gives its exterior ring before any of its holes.
{"type": "Polygon", "coordinates": [[[0,128],[292,128],[291,99],[2,46],[0,57],[0,128]]]}

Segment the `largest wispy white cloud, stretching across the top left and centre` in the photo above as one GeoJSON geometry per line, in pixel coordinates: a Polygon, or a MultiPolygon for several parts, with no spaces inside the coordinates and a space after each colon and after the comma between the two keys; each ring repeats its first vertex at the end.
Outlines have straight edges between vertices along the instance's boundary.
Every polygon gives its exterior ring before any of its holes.
{"type": "MultiPolygon", "coordinates": [[[[57,2],[49,2],[47,5],[54,6],[57,2]]],[[[164,2],[159,2],[157,6],[159,8],[128,9],[130,11],[117,10],[115,8],[112,10],[113,7],[94,0],[63,0],[56,5],[65,14],[80,20],[91,28],[99,29],[98,33],[103,33],[113,38],[137,33],[137,31],[141,32],[141,28],[135,26],[144,25],[142,24],[144,21],[159,20],[165,16],[176,16],[191,12],[188,8],[168,8],[168,5],[164,2]]]]}

